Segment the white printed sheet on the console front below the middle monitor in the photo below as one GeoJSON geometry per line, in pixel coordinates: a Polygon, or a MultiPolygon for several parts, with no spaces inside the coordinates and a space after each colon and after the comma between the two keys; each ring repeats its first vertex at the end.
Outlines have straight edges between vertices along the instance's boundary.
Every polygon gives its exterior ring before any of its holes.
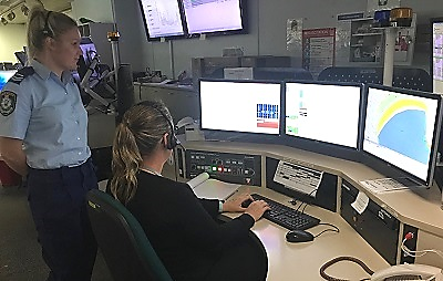
{"type": "Polygon", "coordinates": [[[320,170],[280,160],[274,175],[274,181],[316,197],[322,176],[323,173],[320,170]]]}

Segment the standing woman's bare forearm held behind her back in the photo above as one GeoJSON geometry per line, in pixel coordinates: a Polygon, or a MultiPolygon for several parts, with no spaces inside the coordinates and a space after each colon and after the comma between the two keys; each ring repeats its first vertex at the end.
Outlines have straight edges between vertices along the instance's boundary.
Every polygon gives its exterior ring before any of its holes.
{"type": "Polygon", "coordinates": [[[24,155],[23,140],[10,137],[0,137],[0,155],[3,162],[21,176],[28,174],[27,156],[24,155]]]}

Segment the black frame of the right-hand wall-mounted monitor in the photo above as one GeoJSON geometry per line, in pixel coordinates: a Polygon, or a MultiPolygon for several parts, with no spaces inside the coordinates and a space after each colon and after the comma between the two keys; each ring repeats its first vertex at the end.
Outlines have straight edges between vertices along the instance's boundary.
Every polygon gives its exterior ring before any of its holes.
{"type": "Polygon", "coordinates": [[[182,12],[183,12],[183,24],[185,28],[186,37],[187,38],[199,38],[202,35],[205,37],[223,37],[223,35],[236,35],[236,34],[247,34],[248,33],[248,12],[247,12],[247,1],[246,0],[238,0],[239,1],[239,9],[240,9],[240,20],[241,20],[241,29],[237,30],[220,30],[220,31],[208,31],[208,32],[190,32],[187,27],[187,17],[185,12],[185,8],[183,7],[182,2],[182,12]]]}

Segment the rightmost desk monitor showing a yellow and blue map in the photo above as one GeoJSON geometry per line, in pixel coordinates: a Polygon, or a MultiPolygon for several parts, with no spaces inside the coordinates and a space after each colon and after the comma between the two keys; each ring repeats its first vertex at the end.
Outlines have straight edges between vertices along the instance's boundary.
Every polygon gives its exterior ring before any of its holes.
{"type": "Polygon", "coordinates": [[[404,89],[367,87],[363,152],[430,186],[441,126],[441,96],[404,89]]]}

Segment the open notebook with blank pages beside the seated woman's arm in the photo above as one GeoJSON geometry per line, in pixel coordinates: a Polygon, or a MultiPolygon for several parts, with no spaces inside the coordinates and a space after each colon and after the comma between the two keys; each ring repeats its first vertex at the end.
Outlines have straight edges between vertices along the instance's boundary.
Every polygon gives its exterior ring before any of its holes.
{"type": "Polygon", "coordinates": [[[225,200],[233,195],[241,185],[224,183],[209,178],[209,174],[202,173],[187,181],[198,198],[225,200]]]}

